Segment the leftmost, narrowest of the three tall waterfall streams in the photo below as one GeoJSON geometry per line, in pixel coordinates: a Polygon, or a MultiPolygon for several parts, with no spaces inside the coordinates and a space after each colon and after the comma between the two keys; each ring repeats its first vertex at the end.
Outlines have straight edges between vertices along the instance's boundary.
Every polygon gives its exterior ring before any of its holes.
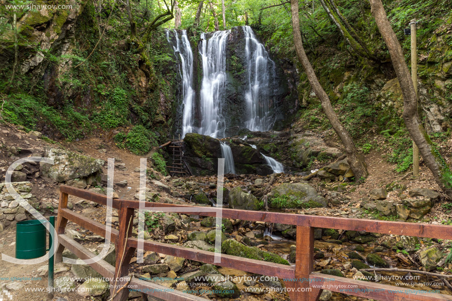
{"type": "MultiPolygon", "coordinates": [[[[167,40],[170,41],[170,32],[166,32],[167,40]]],[[[179,74],[182,78],[182,138],[187,133],[193,132],[193,120],[195,111],[195,90],[193,89],[193,51],[188,41],[187,31],[183,30],[181,40],[177,31],[174,30],[176,45],[173,45],[174,54],[180,56],[179,74]],[[180,44],[182,47],[180,47],[180,44]]]]}

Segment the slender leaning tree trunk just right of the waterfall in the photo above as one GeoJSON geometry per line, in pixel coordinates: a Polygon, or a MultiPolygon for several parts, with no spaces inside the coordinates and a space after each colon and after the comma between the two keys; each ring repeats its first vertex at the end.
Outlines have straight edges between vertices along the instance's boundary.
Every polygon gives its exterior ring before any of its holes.
{"type": "Polygon", "coordinates": [[[292,11],[292,29],[293,29],[292,31],[295,50],[297,52],[298,59],[300,60],[300,63],[303,66],[306,75],[308,76],[309,83],[311,84],[311,87],[313,88],[315,95],[318,97],[322,104],[322,108],[326,114],[326,117],[328,118],[331,125],[333,126],[334,131],[336,132],[336,134],[338,134],[339,138],[344,144],[345,152],[347,155],[347,162],[355,175],[355,180],[362,181],[368,175],[364,158],[360,154],[358,154],[358,150],[356,149],[353,143],[353,139],[351,138],[347,129],[342,125],[341,121],[336,115],[336,112],[331,106],[331,102],[330,99],[328,98],[328,95],[320,85],[320,82],[318,81],[317,76],[315,75],[314,69],[311,63],[309,62],[308,57],[306,56],[300,33],[298,0],[291,0],[290,3],[292,11]]]}

